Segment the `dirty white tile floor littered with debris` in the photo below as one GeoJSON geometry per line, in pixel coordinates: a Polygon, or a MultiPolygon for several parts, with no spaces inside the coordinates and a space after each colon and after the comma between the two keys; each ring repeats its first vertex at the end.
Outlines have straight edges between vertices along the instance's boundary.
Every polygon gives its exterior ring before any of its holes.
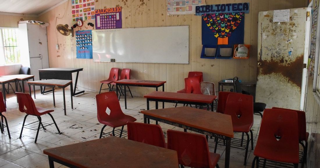
{"type": "MultiPolygon", "coordinates": [[[[5,129],[3,134],[0,134],[0,168],[15,168],[15,167],[49,167],[48,157],[43,154],[44,149],[68,145],[77,142],[89,141],[98,139],[102,125],[97,120],[96,107],[96,92],[85,92],[73,98],[74,109],[71,109],[71,101],[69,92],[66,91],[66,106],[67,115],[63,112],[62,90],[56,89],[56,107],[53,107],[52,93],[41,95],[38,91],[36,99],[34,99],[36,106],[46,107],[55,110],[51,114],[62,134],[57,134],[57,129],[54,125],[46,127],[47,130],[40,129],[37,143],[34,143],[36,131],[31,129],[23,129],[22,138],[19,139],[22,122],[25,113],[21,113],[18,109],[18,104],[15,95],[9,94],[7,96],[7,112],[3,113],[9,124],[11,139],[5,129]]],[[[147,109],[146,99],[141,97],[127,97],[127,108],[124,109],[124,98],[120,99],[120,105],[125,114],[131,115],[137,119],[136,122],[143,122],[143,115],[139,112],[147,109]]],[[[151,102],[150,107],[154,109],[155,103],[151,102]]],[[[181,105],[182,106],[182,105],[181,105]]],[[[165,107],[174,107],[172,103],[165,103],[165,107]]],[[[34,116],[28,116],[26,123],[37,121],[34,116]]],[[[49,115],[45,114],[42,121],[52,123],[49,115]]],[[[254,115],[254,124],[252,127],[254,146],[258,138],[258,131],[260,127],[260,115],[254,115]]],[[[181,130],[172,125],[160,123],[164,133],[167,129],[181,130]]],[[[126,129],[126,128],[125,128],[126,129]]],[[[106,130],[106,128],[105,128],[106,130]]],[[[108,129],[110,130],[110,128],[108,129]]],[[[106,130],[105,132],[107,132],[106,130]]],[[[111,131],[111,130],[110,130],[111,131]]],[[[109,131],[108,131],[109,132],[109,131]]],[[[237,134],[236,136],[238,136],[237,134]]],[[[214,142],[209,139],[209,148],[213,152],[214,142]]],[[[244,150],[232,149],[230,156],[230,168],[251,167],[253,160],[253,150],[248,152],[247,166],[243,165],[244,150]]],[[[218,162],[220,167],[224,167],[224,147],[218,146],[217,153],[221,155],[218,162]]],[[[55,167],[66,167],[61,164],[54,163],[55,167]]],[[[305,166],[306,167],[306,166],[305,166]]]]}

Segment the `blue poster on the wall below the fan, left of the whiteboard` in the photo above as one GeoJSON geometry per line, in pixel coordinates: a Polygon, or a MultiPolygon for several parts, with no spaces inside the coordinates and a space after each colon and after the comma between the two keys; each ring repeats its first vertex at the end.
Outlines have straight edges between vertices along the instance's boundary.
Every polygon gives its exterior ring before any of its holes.
{"type": "Polygon", "coordinates": [[[76,58],[92,59],[92,31],[76,31],[76,58]]]}

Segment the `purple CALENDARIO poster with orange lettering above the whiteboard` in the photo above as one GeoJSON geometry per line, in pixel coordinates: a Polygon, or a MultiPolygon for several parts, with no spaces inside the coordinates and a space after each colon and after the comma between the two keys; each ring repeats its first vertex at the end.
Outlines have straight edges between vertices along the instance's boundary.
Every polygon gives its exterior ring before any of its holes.
{"type": "Polygon", "coordinates": [[[121,7],[95,10],[96,29],[121,29],[121,7]]]}

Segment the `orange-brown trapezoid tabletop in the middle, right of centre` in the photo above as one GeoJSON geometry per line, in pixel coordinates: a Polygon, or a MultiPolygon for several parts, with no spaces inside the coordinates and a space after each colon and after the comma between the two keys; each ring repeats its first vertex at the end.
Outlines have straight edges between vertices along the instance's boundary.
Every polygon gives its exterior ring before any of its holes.
{"type": "Polygon", "coordinates": [[[233,138],[231,116],[192,107],[144,110],[141,113],[233,138]]]}

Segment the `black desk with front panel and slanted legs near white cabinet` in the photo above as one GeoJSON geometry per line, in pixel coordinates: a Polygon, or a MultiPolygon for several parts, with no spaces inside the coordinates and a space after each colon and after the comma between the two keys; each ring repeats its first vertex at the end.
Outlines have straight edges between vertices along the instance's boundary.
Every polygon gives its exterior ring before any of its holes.
{"type": "MultiPolygon", "coordinates": [[[[63,80],[72,80],[72,73],[76,72],[76,81],[75,87],[73,90],[73,95],[77,95],[80,93],[84,93],[84,91],[79,91],[76,93],[77,81],[79,76],[79,71],[82,71],[83,68],[46,68],[46,69],[39,69],[39,78],[41,79],[63,79],[63,80]]],[[[51,90],[50,90],[51,91],[51,90]]],[[[45,91],[49,92],[49,91],[45,91]]],[[[42,87],[41,87],[41,93],[42,87]]]]}

